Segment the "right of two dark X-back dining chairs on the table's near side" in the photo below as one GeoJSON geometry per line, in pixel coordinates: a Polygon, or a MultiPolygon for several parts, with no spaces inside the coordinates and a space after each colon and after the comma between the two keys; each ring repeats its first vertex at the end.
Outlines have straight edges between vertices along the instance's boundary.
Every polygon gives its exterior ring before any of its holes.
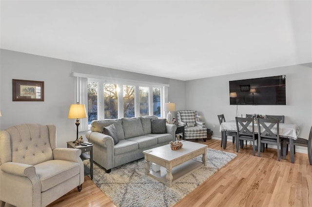
{"type": "Polygon", "coordinates": [[[273,144],[277,148],[277,160],[280,161],[279,120],[278,119],[257,119],[258,125],[258,156],[264,144],[273,144]],[[274,130],[273,130],[274,129],[274,130]],[[273,132],[274,131],[274,132],[273,132]],[[261,147],[260,147],[261,146],[261,147]]]}

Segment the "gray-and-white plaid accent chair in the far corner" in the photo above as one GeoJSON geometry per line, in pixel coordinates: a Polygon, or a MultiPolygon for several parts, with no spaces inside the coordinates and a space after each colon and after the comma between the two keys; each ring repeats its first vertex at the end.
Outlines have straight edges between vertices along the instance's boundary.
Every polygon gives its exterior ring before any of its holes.
{"type": "Polygon", "coordinates": [[[199,121],[197,111],[177,111],[177,121],[178,125],[185,126],[185,138],[183,139],[203,138],[206,141],[207,128],[204,122],[199,121]]]}

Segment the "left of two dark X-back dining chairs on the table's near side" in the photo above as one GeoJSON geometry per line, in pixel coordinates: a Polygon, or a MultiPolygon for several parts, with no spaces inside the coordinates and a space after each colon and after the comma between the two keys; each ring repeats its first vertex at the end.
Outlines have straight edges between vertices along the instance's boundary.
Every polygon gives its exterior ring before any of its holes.
{"type": "Polygon", "coordinates": [[[235,117],[236,121],[236,152],[244,147],[244,140],[253,142],[253,154],[255,155],[255,140],[257,136],[254,134],[254,118],[235,117]]]}

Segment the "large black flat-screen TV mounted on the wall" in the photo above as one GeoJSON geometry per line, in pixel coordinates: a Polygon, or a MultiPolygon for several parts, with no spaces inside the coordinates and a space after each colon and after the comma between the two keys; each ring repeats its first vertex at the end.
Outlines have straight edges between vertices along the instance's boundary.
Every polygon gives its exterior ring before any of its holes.
{"type": "Polygon", "coordinates": [[[230,81],[230,105],[286,105],[286,76],[230,81]]]}

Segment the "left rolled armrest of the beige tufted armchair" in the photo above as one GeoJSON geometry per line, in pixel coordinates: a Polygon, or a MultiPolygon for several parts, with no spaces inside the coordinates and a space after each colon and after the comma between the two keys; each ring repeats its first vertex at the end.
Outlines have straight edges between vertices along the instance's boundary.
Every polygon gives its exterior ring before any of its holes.
{"type": "Polygon", "coordinates": [[[36,175],[36,168],[33,165],[27,165],[17,162],[3,163],[1,165],[1,170],[5,173],[14,174],[22,177],[32,177],[36,175]]]}

